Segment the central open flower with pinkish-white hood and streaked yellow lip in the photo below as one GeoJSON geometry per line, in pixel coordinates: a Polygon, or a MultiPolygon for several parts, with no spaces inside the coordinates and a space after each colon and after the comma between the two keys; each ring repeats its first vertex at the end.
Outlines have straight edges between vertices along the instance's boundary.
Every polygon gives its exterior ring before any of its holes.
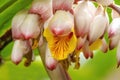
{"type": "Polygon", "coordinates": [[[57,11],[46,26],[44,36],[53,58],[66,59],[74,51],[77,41],[72,15],[66,11],[57,11]]]}

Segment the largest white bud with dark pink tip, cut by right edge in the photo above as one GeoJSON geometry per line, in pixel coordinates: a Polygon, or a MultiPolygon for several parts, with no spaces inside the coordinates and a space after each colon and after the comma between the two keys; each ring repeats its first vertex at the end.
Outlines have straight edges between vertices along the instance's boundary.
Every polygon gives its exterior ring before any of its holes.
{"type": "Polygon", "coordinates": [[[108,29],[110,38],[109,48],[113,49],[118,45],[120,39],[120,18],[114,18],[108,29]]]}

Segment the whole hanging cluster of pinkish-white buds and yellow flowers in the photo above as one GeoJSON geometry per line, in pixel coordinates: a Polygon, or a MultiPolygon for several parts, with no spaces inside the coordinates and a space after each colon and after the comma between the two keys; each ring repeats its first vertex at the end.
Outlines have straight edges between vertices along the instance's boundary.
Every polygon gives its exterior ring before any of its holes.
{"type": "Polygon", "coordinates": [[[113,0],[34,0],[29,10],[16,14],[12,20],[12,36],[15,41],[12,61],[18,64],[26,57],[25,65],[33,61],[32,50],[46,43],[45,64],[53,70],[58,63],[68,68],[75,63],[79,68],[79,55],[93,57],[93,51],[107,52],[104,38],[108,32],[110,49],[118,46],[120,64],[120,15],[113,10],[109,25],[106,8],[113,0]],[[110,27],[109,27],[110,26],[110,27]]]}

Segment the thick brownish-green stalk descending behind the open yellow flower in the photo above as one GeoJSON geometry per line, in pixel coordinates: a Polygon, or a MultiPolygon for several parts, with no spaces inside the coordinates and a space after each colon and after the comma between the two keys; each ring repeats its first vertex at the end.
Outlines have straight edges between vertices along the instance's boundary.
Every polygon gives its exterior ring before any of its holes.
{"type": "Polygon", "coordinates": [[[70,76],[68,75],[67,71],[63,68],[63,66],[61,65],[61,63],[58,63],[56,68],[54,70],[49,70],[46,65],[45,65],[45,56],[46,56],[46,46],[47,43],[44,42],[44,45],[42,45],[41,47],[39,47],[39,51],[40,51],[40,57],[41,60],[43,62],[43,65],[45,66],[45,69],[50,77],[51,80],[71,80],[70,76]]]}

